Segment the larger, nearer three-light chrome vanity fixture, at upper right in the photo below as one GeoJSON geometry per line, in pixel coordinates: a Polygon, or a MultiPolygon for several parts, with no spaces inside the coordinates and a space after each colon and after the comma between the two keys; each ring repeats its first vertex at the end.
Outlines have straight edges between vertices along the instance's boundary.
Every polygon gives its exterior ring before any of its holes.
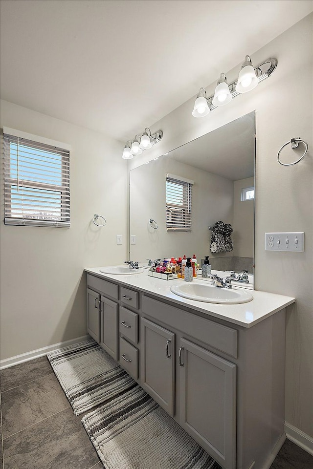
{"type": "Polygon", "coordinates": [[[253,67],[251,59],[246,55],[246,59],[242,64],[238,80],[227,84],[226,75],[221,73],[221,77],[217,82],[214,95],[206,97],[204,88],[200,88],[197,95],[195,106],[192,111],[194,117],[204,117],[216,107],[228,104],[232,98],[241,93],[246,93],[255,88],[260,82],[266,80],[277,67],[276,59],[268,59],[257,67],[253,67]]]}

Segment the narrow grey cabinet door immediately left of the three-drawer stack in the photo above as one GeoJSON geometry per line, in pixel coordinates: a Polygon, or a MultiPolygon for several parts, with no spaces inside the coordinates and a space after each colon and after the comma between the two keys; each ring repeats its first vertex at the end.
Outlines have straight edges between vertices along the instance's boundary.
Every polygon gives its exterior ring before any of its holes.
{"type": "Polygon", "coordinates": [[[118,360],[118,304],[101,295],[100,345],[118,360]]]}

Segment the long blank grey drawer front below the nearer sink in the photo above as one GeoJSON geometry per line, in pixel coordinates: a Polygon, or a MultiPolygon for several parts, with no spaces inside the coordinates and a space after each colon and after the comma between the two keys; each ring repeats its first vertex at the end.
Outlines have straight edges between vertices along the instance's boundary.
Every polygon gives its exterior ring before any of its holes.
{"type": "Polygon", "coordinates": [[[142,296],[142,312],[168,326],[197,338],[199,341],[226,353],[238,357],[237,330],[224,326],[196,314],[183,311],[156,299],[142,296]]]}

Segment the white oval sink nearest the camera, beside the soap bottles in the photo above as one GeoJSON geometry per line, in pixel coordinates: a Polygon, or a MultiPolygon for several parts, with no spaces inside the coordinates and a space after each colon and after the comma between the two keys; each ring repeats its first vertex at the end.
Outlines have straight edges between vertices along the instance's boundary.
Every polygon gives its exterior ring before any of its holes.
{"type": "Polygon", "coordinates": [[[172,293],[179,297],[204,301],[206,303],[238,304],[252,301],[253,297],[244,290],[234,290],[233,288],[219,288],[214,285],[196,282],[183,282],[172,285],[172,293]]]}

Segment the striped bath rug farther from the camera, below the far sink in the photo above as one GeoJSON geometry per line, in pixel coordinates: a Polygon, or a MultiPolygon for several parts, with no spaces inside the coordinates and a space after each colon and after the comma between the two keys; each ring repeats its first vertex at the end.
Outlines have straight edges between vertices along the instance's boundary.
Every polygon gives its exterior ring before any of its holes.
{"type": "Polygon", "coordinates": [[[93,339],[47,355],[75,415],[116,397],[135,384],[93,339]]]}

